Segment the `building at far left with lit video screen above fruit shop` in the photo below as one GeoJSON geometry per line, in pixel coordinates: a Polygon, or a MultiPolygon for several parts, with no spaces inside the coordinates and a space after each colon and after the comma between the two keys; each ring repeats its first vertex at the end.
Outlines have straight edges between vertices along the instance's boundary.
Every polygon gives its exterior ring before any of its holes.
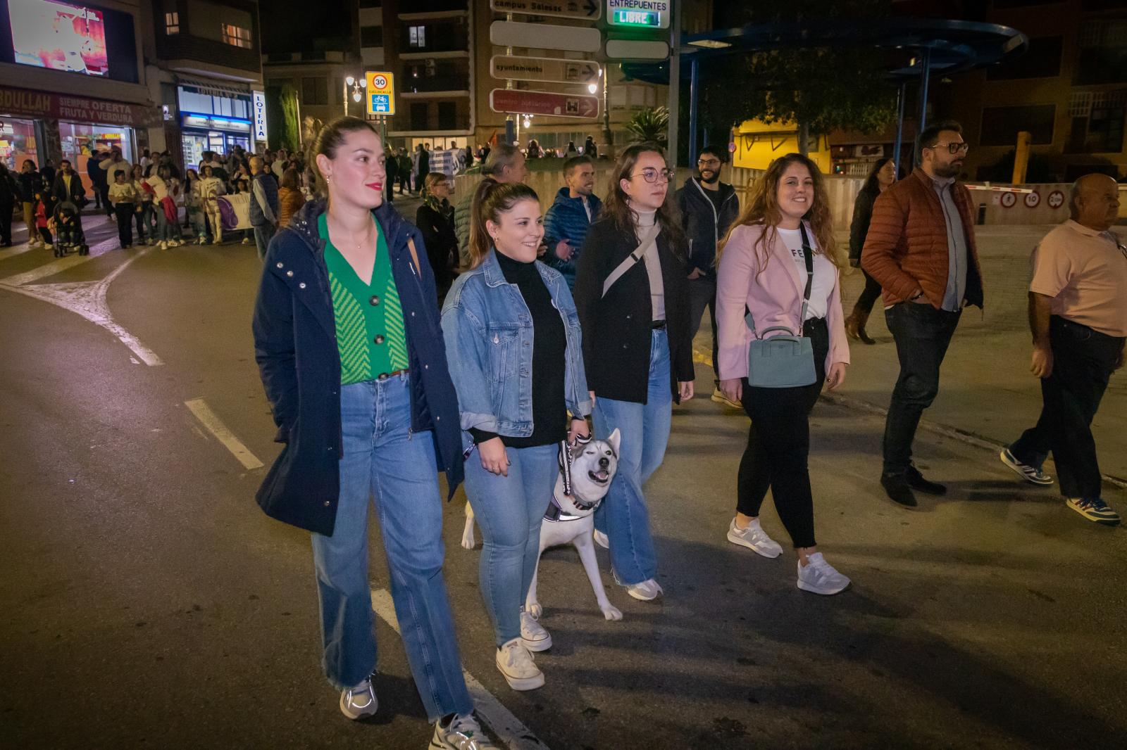
{"type": "Polygon", "coordinates": [[[19,169],[96,151],[135,159],[161,127],[145,86],[143,1],[0,0],[0,159],[19,169]]]}

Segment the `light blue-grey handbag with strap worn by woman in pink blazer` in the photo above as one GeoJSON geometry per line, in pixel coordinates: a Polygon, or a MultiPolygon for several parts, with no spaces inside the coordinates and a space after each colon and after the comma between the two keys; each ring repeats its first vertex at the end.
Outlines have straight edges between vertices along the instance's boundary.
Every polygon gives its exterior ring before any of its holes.
{"type": "Polygon", "coordinates": [[[751,313],[745,322],[755,338],[747,348],[747,384],[761,389],[792,389],[811,385],[817,380],[814,368],[814,342],[802,336],[806,309],[810,304],[814,288],[814,251],[806,235],[806,225],[799,223],[802,232],[802,255],[806,256],[806,293],[802,296],[802,312],[799,315],[798,332],[782,325],[772,325],[762,333],[755,331],[751,313]],[[771,331],[784,331],[764,338],[771,331]]]}

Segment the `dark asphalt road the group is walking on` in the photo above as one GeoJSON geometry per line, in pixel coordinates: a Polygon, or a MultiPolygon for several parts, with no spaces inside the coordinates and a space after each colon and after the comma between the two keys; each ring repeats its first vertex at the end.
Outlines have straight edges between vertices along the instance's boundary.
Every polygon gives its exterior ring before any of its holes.
{"type": "MultiPolygon", "coordinates": [[[[425,747],[382,619],[380,712],[339,714],[320,676],[309,537],[261,515],[265,470],[186,405],[203,400],[251,458],[276,455],[249,330],[254,248],[114,244],[65,268],[0,250],[0,747],[425,747]],[[126,262],[101,287],[112,320],[99,318],[96,283],[126,262]]],[[[706,396],[711,378],[699,365],[706,396]]],[[[979,409],[1008,405],[984,390],[979,409]]],[[[1017,483],[984,448],[924,432],[919,463],[950,492],[895,507],[877,483],[881,427],[815,411],[818,539],[854,581],[822,598],[796,589],[789,550],[765,560],[725,539],[746,418],[707,398],[676,409],[647,488],[665,598],[627,597],[600,551],[624,613],[606,622],[575,553],[548,553],[556,645],[532,693],[494,667],[459,492],[446,575],[465,670],[554,750],[1121,747],[1124,530],[1017,483]]],[[[1124,493],[1107,498],[1127,511],[1124,493]]],[[[770,502],[763,518],[787,547],[770,502]]],[[[374,525],[371,542],[379,591],[374,525]]]]}

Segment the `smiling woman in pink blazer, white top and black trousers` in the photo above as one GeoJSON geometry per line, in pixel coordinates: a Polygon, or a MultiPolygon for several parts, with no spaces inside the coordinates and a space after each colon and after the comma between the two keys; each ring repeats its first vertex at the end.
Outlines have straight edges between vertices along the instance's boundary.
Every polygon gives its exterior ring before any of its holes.
{"type": "Polygon", "coordinates": [[[818,552],[807,456],[810,410],[823,383],[836,389],[845,380],[849,343],[838,286],[843,261],[834,242],[822,173],[813,161],[791,153],[771,162],[728,231],[718,265],[717,375],[724,394],[743,402],[752,418],[728,541],[764,557],[782,554],[782,547],[760,526],[760,507],[770,488],[798,552],[798,588],[838,593],[850,580],[818,552]],[[806,320],[800,322],[806,252],[813,253],[814,282],[806,320]],[[744,321],[745,311],[751,311],[761,333],[779,325],[801,330],[811,339],[817,375],[813,385],[767,389],[747,384],[747,349],[754,333],[744,321]]]}

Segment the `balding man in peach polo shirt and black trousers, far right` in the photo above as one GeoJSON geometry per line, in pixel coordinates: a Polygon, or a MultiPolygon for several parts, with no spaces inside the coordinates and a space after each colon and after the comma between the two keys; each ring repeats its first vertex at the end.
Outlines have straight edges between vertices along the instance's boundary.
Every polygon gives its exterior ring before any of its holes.
{"type": "Polygon", "coordinates": [[[1127,341],[1127,245],[1111,231],[1119,186],[1107,175],[1085,175],[1070,194],[1072,217],[1033,250],[1029,325],[1030,369],[1041,378],[1037,426],[1002,450],[1002,463],[1033,484],[1051,484],[1041,471],[1049,450],[1061,494],[1090,521],[1119,524],[1101,498],[1092,419],[1111,373],[1122,367],[1127,341]]]}

